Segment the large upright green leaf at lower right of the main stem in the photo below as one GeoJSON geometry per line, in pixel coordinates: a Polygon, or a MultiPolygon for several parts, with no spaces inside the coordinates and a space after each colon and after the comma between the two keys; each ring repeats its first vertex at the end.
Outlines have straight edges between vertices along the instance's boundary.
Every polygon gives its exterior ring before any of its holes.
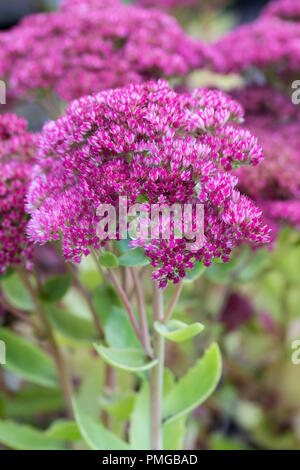
{"type": "Polygon", "coordinates": [[[168,421],[184,416],[203,403],[214,391],[221,376],[221,355],[213,343],[164,400],[163,415],[168,421]]]}

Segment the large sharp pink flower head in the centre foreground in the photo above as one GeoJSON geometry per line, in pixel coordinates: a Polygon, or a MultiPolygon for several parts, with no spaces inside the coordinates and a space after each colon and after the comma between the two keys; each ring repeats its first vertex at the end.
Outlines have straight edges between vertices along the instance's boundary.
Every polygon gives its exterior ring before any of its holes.
{"type": "Polygon", "coordinates": [[[160,287],[178,282],[195,260],[228,261],[241,240],[268,242],[260,210],[240,195],[231,172],[262,159],[256,138],[232,125],[242,117],[240,105],[221,92],[179,95],[163,80],[72,102],[41,135],[28,193],[30,238],[61,239],[66,259],[79,262],[101,244],[101,203],[117,207],[126,196],[129,205],[140,197],[145,204],[204,204],[198,251],[188,251],[185,238],[133,243],[145,249],[160,287]]]}

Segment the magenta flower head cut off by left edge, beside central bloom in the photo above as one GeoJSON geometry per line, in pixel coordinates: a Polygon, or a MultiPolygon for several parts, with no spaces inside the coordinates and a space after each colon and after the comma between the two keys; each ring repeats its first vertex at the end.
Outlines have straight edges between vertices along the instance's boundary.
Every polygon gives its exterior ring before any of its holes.
{"type": "Polygon", "coordinates": [[[20,262],[29,265],[31,259],[25,195],[36,138],[26,126],[14,114],[0,116],[0,273],[20,262]]]}

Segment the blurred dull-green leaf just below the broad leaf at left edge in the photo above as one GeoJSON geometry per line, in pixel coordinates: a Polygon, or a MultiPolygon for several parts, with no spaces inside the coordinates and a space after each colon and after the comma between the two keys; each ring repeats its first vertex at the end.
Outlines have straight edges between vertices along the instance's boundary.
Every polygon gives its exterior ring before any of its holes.
{"type": "Polygon", "coordinates": [[[15,393],[12,399],[5,400],[3,415],[11,419],[32,419],[40,413],[63,410],[64,406],[64,399],[59,389],[28,386],[15,393]]]}

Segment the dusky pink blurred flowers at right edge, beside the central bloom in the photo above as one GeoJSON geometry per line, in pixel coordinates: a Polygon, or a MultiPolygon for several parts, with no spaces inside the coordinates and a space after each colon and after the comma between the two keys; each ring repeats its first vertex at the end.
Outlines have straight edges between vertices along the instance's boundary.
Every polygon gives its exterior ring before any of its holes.
{"type": "Polygon", "coordinates": [[[246,109],[246,125],[264,151],[252,171],[237,170],[240,187],[273,221],[300,229],[300,112],[288,97],[268,87],[250,87],[234,94],[246,109]]]}

